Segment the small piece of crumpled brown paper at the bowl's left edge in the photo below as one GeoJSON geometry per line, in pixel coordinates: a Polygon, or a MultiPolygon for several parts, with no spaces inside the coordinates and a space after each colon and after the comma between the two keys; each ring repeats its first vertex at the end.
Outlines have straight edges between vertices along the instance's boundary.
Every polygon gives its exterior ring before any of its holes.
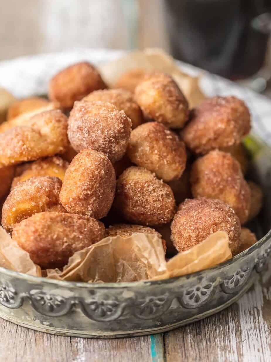
{"type": "Polygon", "coordinates": [[[33,263],[29,253],[21,249],[2,227],[0,227],[0,266],[36,277],[42,275],[40,267],[33,263]]]}

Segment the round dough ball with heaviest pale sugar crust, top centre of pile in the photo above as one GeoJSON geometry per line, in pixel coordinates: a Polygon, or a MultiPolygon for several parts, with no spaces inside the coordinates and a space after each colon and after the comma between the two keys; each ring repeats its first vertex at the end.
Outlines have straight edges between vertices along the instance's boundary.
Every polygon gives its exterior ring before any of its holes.
{"type": "Polygon", "coordinates": [[[111,103],[75,102],[68,121],[68,137],[76,151],[90,148],[105,153],[111,162],[124,156],[132,122],[111,103]]]}

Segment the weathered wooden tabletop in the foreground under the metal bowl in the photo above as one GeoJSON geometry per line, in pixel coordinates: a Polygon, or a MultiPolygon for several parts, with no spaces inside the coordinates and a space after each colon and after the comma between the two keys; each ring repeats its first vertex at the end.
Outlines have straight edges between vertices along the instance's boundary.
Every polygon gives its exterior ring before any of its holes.
{"type": "Polygon", "coordinates": [[[226,310],[152,336],[94,340],[35,332],[0,319],[1,362],[271,361],[271,268],[226,310]]]}

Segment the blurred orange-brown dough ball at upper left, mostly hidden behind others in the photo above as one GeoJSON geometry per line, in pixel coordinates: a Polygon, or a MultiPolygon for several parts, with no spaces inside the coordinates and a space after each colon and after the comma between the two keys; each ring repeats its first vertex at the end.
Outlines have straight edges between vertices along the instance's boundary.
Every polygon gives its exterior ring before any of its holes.
{"type": "Polygon", "coordinates": [[[50,101],[41,97],[31,97],[18,100],[9,107],[7,120],[9,121],[22,113],[28,113],[36,109],[46,107],[49,103],[50,101]]]}

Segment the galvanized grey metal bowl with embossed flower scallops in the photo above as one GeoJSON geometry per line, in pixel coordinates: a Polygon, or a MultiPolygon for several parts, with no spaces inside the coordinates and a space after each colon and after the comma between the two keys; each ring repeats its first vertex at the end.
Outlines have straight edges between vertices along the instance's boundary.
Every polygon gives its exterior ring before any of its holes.
{"type": "MultiPolygon", "coordinates": [[[[37,59],[42,62],[40,57],[37,59]]],[[[78,59],[82,59],[79,54],[78,59]]],[[[27,67],[31,67],[31,62],[33,67],[34,60],[30,60],[27,67]]],[[[43,62],[48,65],[46,59],[43,62]]],[[[11,65],[0,63],[0,76],[7,65],[12,68],[12,62],[11,65]]],[[[18,70],[16,61],[13,61],[13,70],[15,73],[18,70]]],[[[38,71],[42,77],[40,68],[38,71]]],[[[30,83],[36,81],[36,73],[29,79],[30,83]]],[[[14,76],[10,75],[12,79],[14,76]]],[[[45,83],[48,73],[42,79],[45,83]]],[[[33,84],[31,87],[35,88],[33,84]]],[[[39,89],[40,93],[44,92],[42,87],[39,89]]],[[[26,95],[30,94],[22,94],[26,95]]],[[[253,151],[250,176],[262,185],[265,194],[261,215],[250,225],[261,237],[255,245],[214,268],[152,282],[64,282],[0,268],[0,317],[53,334],[116,338],[165,332],[212,315],[235,302],[264,271],[271,253],[271,149],[255,136],[250,136],[245,143],[253,151]]]]}

